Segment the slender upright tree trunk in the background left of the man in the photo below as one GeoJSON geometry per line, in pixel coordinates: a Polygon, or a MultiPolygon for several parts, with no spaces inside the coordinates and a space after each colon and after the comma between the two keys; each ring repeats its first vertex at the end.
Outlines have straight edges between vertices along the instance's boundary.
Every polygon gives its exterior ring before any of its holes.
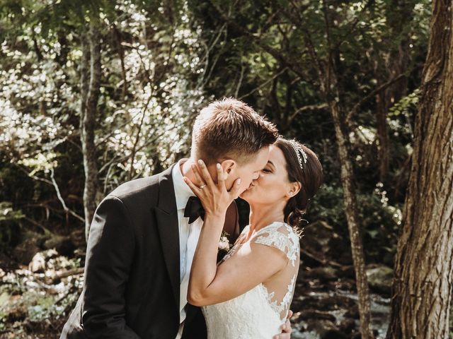
{"type": "Polygon", "coordinates": [[[96,129],[96,112],[101,85],[101,44],[100,35],[93,23],[88,35],[82,35],[81,60],[81,111],[80,136],[84,155],[84,212],[85,237],[88,240],[91,220],[96,210],[98,191],[98,165],[94,132],[96,129]]]}

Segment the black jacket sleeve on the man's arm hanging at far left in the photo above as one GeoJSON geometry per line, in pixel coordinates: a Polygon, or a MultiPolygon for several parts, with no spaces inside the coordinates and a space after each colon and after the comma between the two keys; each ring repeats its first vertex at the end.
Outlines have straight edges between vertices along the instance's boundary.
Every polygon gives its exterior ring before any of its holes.
{"type": "Polygon", "coordinates": [[[125,285],[134,257],[134,231],[115,196],[98,206],[86,249],[81,324],[88,338],[139,339],[125,321],[125,285]]]}

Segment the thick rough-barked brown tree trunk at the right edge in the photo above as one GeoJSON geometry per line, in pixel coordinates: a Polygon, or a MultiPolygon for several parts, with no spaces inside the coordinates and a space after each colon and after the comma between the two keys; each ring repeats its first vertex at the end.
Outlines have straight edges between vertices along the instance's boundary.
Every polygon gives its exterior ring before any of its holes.
{"type": "Polygon", "coordinates": [[[453,281],[452,2],[435,0],[386,338],[448,338],[453,281]]]}

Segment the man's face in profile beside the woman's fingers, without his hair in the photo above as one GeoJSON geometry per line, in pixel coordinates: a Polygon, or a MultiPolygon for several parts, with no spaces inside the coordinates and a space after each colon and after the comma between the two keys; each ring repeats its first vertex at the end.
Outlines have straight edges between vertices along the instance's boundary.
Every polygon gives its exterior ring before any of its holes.
{"type": "Polygon", "coordinates": [[[228,177],[225,180],[226,189],[230,190],[233,186],[234,181],[241,178],[241,187],[239,188],[239,194],[248,189],[253,180],[258,179],[261,169],[265,167],[269,160],[269,148],[261,148],[256,155],[251,156],[250,160],[238,164],[231,169],[228,177]]]}

